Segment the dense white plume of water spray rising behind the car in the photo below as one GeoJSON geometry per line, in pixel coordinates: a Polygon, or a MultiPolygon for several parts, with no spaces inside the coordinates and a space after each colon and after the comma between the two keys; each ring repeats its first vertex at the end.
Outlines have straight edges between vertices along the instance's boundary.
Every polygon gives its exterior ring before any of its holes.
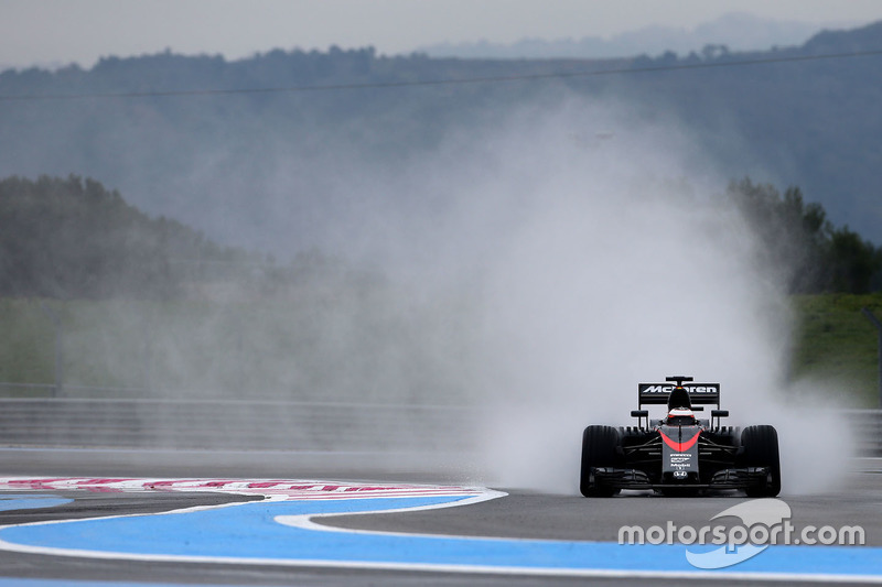
{"type": "MultiPolygon", "coordinates": [[[[725,178],[689,138],[627,116],[570,104],[523,111],[480,144],[460,138],[438,157],[453,204],[408,218],[409,274],[471,289],[481,307],[461,333],[471,365],[456,367],[485,414],[480,470],[577,493],[583,427],[626,424],[636,383],[676,371],[721,382],[732,424],[778,426],[785,492],[820,489],[806,461],[828,458],[835,477],[841,447],[802,434],[811,416],[783,391],[792,319],[777,268],[759,263],[761,243],[719,195],[725,178]],[[417,235],[422,256],[409,257],[417,235]]],[[[443,176],[433,164],[415,176],[443,176]]]]}

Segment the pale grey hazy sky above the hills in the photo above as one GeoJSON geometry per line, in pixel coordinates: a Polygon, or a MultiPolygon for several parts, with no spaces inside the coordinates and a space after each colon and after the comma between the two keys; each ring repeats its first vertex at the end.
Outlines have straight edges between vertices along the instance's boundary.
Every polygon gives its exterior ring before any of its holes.
{"type": "Polygon", "coordinates": [[[0,64],[26,66],[166,47],[238,58],[373,45],[409,53],[444,41],[609,36],[691,29],[728,12],[818,25],[882,19],[881,0],[0,0],[0,64]]]}

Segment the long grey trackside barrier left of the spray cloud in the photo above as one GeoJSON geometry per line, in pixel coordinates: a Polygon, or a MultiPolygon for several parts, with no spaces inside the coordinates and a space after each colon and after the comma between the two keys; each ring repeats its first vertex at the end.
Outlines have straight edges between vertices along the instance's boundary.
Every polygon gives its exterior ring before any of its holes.
{"type": "Polygon", "coordinates": [[[369,403],[0,399],[0,445],[227,450],[458,450],[473,411],[369,403]]]}

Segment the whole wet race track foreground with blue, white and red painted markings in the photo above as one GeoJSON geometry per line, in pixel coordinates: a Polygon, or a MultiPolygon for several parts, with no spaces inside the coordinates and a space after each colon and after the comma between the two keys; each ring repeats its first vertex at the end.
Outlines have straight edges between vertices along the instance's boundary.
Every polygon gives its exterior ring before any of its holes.
{"type": "Polygon", "coordinates": [[[747,545],[735,551],[743,562],[716,568],[717,546],[620,545],[620,528],[749,525],[743,515],[712,518],[752,500],[588,500],[355,466],[349,475],[304,466],[282,477],[272,467],[232,476],[203,464],[190,467],[197,475],[154,466],[151,477],[110,477],[115,467],[104,464],[85,477],[72,475],[78,464],[55,465],[47,472],[65,475],[47,477],[34,475],[45,465],[33,456],[18,467],[9,453],[3,459],[13,472],[0,479],[0,587],[882,583],[876,461],[856,463],[848,487],[835,492],[783,496],[795,540],[809,526],[859,525],[863,546],[747,545]]]}

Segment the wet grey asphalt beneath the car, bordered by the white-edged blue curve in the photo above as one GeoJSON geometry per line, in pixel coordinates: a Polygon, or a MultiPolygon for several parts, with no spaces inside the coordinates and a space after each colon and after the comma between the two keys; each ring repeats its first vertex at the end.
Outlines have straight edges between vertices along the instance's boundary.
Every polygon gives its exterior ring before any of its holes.
{"type": "MultiPolygon", "coordinates": [[[[622,524],[701,526],[739,502],[743,496],[670,499],[632,493],[612,499],[507,490],[505,499],[451,510],[377,513],[323,520],[325,525],[372,531],[465,536],[504,536],[539,540],[615,542],[622,524]]],[[[805,525],[862,525],[867,545],[882,545],[882,474],[856,474],[849,491],[825,496],[783,498],[793,510],[793,523],[805,525]]],[[[882,563],[882,562],[881,562],[882,563]]],[[[882,567],[880,567],[882,573],[882,567]]]]}

